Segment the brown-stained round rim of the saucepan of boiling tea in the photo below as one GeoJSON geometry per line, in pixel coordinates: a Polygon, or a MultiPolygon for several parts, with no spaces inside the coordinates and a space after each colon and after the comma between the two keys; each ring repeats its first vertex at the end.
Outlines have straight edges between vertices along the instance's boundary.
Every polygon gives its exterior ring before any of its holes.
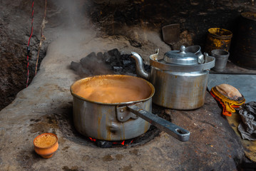
{"type": "Polygon", "coordinates": [[[81,79],[79,79],[78,81],[75,81],[75,82],[71,85],[70,91],[71,91],[71,95],[73,95],[73,97],[76,97],[76,98],[78,98],[78,99],[80,99],[80,100],[85,100],[85,101],[90,102],[90,103],[96,103],[96,104],[101,104],[101,105],[129,105],[129,104],[133,104],[133,103],[140,103],[140,102],[143,102],[143,101],[146,101],[146,100],[152,98],[153,95],[155,94],[155,88],[154,88],[153,84],[150,83],[149,81],[146,81],[145,79],[139,78],[139,77],[136,77],[136,76],[128,76],[128,75],[121,75],[121,74],[98,75],[98,76],[90,76],[90,77],[86,77],[86,78],[81,78],[81,79]],[[78,82],[80,82],[80,81],[83,81],[83,80],[88,80],[88,79],[91,79],[91,78],[98,78],[98,77],[102,77],[102,76],[104,76],[104,77],[111,77],[111,76],[114,76],[114,77],[118,77],[118,76],[119,76],[119,77],[120,77],[120,76],[122,76],[122,77],[130,77],[130,78],[140,79],[140,80],[144,81],[145,83],[148,83],[148,86],[150,86],[150,88],[151,88],[152,91],[151,91],[151,93],[150,93],[150,95],[149,95],[148,98],[144,98],[144,99],[136,100],[136,101],[123,102],[123,103],[101,103],[101,102],[96,102],[96,101],[93,101],[93,100],[88,100],[88,99],[86,99],[86,98],[83,98],[83,97],[81,97],[80,95],[77,95],[76,93],[73,92],[73,88],[72,88],[72,87],[73,87],[76,83],[78,83],[78,82]]]}

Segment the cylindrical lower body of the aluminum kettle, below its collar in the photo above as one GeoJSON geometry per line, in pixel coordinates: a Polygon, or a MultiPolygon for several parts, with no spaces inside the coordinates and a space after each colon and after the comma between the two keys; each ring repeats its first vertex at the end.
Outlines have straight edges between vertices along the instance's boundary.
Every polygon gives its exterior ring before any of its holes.
{"type": "Polygon", "coordinates": [[[155,86],[153,103],[180,110],[200,108],[205,103],[208,73],[179,73],[152,67],[150,82],[155,86]]]}

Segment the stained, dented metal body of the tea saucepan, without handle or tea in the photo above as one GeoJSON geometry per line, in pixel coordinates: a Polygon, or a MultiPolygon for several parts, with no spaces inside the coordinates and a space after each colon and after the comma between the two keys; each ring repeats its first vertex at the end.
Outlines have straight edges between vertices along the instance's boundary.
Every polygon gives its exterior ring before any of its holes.
{"type": "MultiPolygon", "coordinates": [[[[120,82],[116,84],[119,83],[118,85],[121,85],[120,82]]],[[[73,83],[71,93],[73,95],[73,122],[76,130],[82,135],[98,140],[127,140],[138,137],[138,135],[145,133],[150,128],[150,123],[142,118],[130,118],[126,122],[120,122],[116,114],[116,108],[119,105],[130,105],[133,103],[142,103],[141,108],[151,112],[154,88],[152,84],[142,78],[121,75],[84,78],[73,83]],[[133,86],[137,86],[136,88],[140,88],[140,91],[149,90],[149,96],[145,99],[125,103],[98,103],[82,98],[77,94],[76,89],[81,86],[90,87],[100,84],[107,86],[108,84],[115,84],[115,80],[126,83],[131,88],[133,84],[133,86]],[[91,83],[92,81],[95,81],[95,83],[91,83]],[[145,86],[148,86],[148,88],[145,86]]]]}

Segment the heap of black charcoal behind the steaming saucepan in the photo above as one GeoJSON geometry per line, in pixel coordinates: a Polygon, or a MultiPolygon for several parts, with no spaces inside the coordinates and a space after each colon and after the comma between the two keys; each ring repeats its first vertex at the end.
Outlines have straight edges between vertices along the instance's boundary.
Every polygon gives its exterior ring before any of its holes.
{"type": "MultiPolygon", "coordinates": [[[[150,71],[150,66],[144,64],[145,71],[150,71]]],[[[71,69],[81,77],[126,74],[136,76],[135,60],[130,54],[123,54],[114,48],[107,52],[92,52],[81,58],[80,62],[71,62],[71,69]]]]}

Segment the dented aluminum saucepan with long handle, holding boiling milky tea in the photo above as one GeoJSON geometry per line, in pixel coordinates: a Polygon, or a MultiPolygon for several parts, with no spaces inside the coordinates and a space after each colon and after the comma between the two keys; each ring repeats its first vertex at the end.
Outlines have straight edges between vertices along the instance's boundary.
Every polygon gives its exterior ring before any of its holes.
{"type": "MultiPolygon", "coordinates": [[[[116,91],[118,93],[118,90],[116,91]]],[[[109,98],[115,93],[109,93],[109,98]]],[[[178,140],[187,141],[190,136],[188,130],[150,113],[154,93],[155,89],[151,83],[134,76],[93,76],[76,81],[71,86],[75,128],[82,135],[98,140],[126,140],[142,135],[152,123],[178,140]],[[100,89],[110,86],[133,90],[140,94],[140,98],[110,103],[108,99],[90,98],[88,93],[91,90],[83,91],[86,88],[94,88],[100,97],[100,89]],[[98,87],[101,88],[98,90],[98,87]],[[83,96],[84,94],[87,96],[83,96]]],[[[123,94],[123,97],[126,96],[128,94],[123,94]]]]}

